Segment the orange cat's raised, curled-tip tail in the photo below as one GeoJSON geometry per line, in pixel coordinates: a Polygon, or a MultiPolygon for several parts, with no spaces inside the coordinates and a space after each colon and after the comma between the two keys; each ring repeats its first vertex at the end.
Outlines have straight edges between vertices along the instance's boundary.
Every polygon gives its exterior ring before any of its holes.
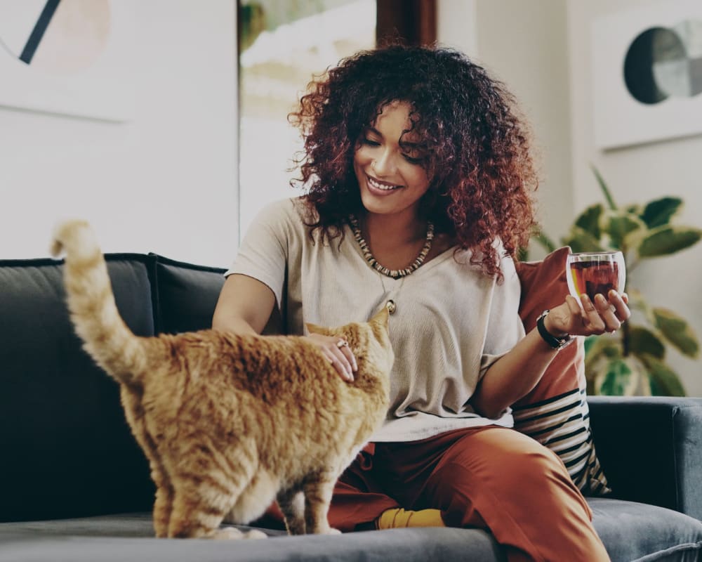
{"type": "Polygon", "coordinates": [[[51,254],[66,252],[63,273],[68,310],[84,348],[108,374],[135,384],[143,372],[143,341],[117,311],[107,265],[93,228],[86,221],[65,221],[55,228],[51,254]]]}

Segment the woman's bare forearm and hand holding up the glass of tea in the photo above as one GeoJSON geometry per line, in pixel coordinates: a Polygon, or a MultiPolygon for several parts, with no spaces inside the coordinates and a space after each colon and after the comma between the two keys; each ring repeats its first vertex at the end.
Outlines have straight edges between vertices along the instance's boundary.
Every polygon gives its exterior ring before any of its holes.
{"type": "MultiPolygon", "coordinates": [[[[609,301],[597,295],[595,303],[583,295],[581,302],[583,308],[574,297],[567,296],[566,302],[553,308],[546,316],[544,327],[557,337],[566,334],[590,336],[614,332],[630,316],[625,294],[612,291],[609,301]]],[[[487,370],[470,403],[476,412],[485,417],[500,417],[507,407],[536,386],[557,353],[558,350],[547,344],[536,328],[532,329],[487,370]]]]}

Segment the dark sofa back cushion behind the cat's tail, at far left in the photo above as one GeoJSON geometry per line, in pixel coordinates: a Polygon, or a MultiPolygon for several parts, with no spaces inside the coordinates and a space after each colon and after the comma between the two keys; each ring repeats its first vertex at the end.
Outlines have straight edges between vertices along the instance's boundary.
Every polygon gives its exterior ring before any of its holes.
{"type": "MultiPolygon", "coordinates": [[[[146,256],[107,256],[117,307],[154,332],[146,256]]],[[[0,261],[0,521],[149,509],[145,457],[119,387],[81,349],[62,261],[0,261]]]]}

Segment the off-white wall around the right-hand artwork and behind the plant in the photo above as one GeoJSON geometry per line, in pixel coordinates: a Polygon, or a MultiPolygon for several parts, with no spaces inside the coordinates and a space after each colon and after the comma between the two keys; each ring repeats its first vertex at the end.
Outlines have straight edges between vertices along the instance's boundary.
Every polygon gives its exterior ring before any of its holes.
{"type": "MultiPolygon", "coordinates": [[[[571,83],[573,197],[577,209],[600,201],[588,163],[602,172],[618,204],[645,203],[675,195],[685,209],[680,223],[702,227],[702,136],[637,145],[618,150],[595,147],[592,108],[592,22],[616,11],[665,6],[665,0],[569,0],[568,44],[571,83]]],[[[702,244],[670,257],[643,262],[630,275],[653,306],[664,306],[691,322],[702,335],[702,244]]],[[[670,349],[667,358],[680,373],[687,392],[702,396],[702,365],[670,349]]]]}

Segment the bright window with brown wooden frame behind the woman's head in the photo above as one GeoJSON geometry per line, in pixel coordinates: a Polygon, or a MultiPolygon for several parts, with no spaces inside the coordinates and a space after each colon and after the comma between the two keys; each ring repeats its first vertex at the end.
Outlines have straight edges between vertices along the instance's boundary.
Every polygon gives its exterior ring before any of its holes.
{"type": "Polygon", "coordinates": [[[290,187],[302,148],[287,121],[312,79],[376,39],[431,43],[435,0],[239,0],[239,233],[290,187]],[[378,22],[376,30],[376,21],[378,22]]]}

